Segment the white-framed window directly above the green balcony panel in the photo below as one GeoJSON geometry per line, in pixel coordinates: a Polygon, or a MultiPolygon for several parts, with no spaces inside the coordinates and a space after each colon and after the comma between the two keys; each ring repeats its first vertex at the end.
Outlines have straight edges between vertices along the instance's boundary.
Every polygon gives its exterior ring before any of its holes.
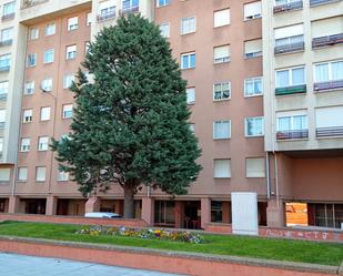
{"type": "Polygon", "coordinates": [[[305,83],[305,69],[291,68],[276,71],[276,88],[286,88],[305,83]]]}

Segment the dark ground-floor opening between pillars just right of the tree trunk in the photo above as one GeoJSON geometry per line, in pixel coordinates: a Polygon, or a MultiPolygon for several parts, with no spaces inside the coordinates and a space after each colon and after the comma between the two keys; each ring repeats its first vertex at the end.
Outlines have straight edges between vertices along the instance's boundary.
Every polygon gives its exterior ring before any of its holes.
{"type": "Polygon", "coordinates": [[[174,226],[175,203],[170,201],[155,201],[154,203],[154,223],[157,225],[170,225],[174,226]]]}

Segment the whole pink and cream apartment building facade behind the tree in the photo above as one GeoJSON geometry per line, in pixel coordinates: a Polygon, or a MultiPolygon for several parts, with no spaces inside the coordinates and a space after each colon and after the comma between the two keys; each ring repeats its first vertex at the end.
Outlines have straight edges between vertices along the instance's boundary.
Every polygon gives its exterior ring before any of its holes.
{"type": "Polygon", "coordinates": [[[286,225],[287,204],[296,202],[306,204],[307,224],[337,227],[343,219],[342,4],[1,1],[0,98],[7,91],[7,100],[0,99],[0,121],[2,110],[11,121],[3,124],[0,212],[122,213],[118,185],[97,198],[82,197],[59,172],[49,143],[69,133],[68,88],[88,42],[118,17],[140,12],[160,27],[188,81],[190,127],[199,137],[203,171],[188,195],[173,200],[143,187],[135,197],[137,217],[184,228],[229,224],[231,193],[253,192],[260,225],[286,225]],[[325,223],[315,223],[323,212],[325,223]]]}

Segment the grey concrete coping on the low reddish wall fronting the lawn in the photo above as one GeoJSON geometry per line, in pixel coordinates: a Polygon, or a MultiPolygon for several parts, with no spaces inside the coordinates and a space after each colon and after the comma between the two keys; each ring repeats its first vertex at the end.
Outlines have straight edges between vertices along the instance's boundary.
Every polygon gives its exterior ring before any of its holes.
{"type": "Polygon", "coordinates": [[[51,239],[44,239],[44,238],[0,236],[0,241],[63,246],[63,247],[73,247],[73,248],[85,248],[85,249],[100,249],[100,251],[122,252],[122,253],[135,253],[135,254],[142,254],[142,255],[163,256],[163,257],[172,257],[172,258],[189,258],[189,259],[204,260],[204,262],[211,262],[211,263],[260,266],[260,267],[294,270],[294,272],[343,275],[343,262],[340,266],[326,266],[326,265],[315,265],[315,264],[283,262],[283,260],[259,259],[259,258],[251,258],[251,257],[209,255],[209,254],[202,254],[202,253],[185,253],[185,252],[174,252],[174,251],[168,252],[168,251],[162,251],[162,249],[133,247],[133,246],[131,247],[131,246],[121,246],[121,245],[99,245],[99,244],[80,243],[80,242],[51,241],[51,239]]]}

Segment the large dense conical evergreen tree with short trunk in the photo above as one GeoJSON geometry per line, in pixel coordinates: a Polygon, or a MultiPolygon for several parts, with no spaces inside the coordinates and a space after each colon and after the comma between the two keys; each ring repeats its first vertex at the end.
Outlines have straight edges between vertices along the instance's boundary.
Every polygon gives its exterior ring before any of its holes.
{"type": "Polygon", "coordinates": [[[169,42],[140,16],[120,18],[90,44],[71,85],[75,106],[69,137],[53,141],[62,171],[83,195],[118,183],[124,217],[142,185],[184,194],[201,166],[201,151],[189,129],[185,81],[169,42]]]}

